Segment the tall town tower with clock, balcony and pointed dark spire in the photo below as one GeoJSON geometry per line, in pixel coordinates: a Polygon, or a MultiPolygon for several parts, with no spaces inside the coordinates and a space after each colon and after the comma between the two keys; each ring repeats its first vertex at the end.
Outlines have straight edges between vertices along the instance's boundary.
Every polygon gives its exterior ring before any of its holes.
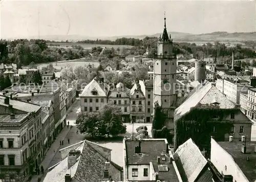
{"type": "MultiPolygon", "coordinates": [[[[154,59],[154,103],[162,106],[168,118],[166,126],[173,129],[174,111],[176,109],[176,72],[177,58],[173,53],[173,39],[168,36],[164,15],[163,34],[159,37],[158,53],[154,59]]],[[[167,122],[166,121],[166,122],[167,122]]]]}

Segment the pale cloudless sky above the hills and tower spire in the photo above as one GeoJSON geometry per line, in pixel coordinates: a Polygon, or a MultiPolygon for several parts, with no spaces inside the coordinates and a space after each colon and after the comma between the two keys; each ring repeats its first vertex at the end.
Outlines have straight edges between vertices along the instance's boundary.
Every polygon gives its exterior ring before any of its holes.
{"type": "MultiPolygon", "coordinates": [[[[1,1],[1,0],[0,0],[1,1]]],[[[256,32],[256,1],[0,2],[0,38],[256,32]]]]}

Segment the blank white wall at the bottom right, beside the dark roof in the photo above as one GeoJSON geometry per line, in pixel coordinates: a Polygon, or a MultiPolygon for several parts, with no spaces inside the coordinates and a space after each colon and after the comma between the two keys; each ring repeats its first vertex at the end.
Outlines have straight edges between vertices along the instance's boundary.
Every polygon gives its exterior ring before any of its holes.
{"type": "Polygon", "coordinates": [[[234,162],[233,157],[214,139],[211,139],[210,161],[220,173],[223,172],[224,175],[232,175],[233,181],[249,181],[239,166],[234,162]]]}

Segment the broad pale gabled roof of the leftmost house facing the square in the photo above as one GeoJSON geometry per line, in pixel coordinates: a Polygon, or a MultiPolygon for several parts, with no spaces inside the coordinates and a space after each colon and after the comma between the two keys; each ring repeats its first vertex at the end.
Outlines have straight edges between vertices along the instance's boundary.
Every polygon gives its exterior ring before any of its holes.
{"type": "Polygon", "coordinates": [[[98,83],[96,77],[84,87],[80,97],[106,97],[109,90],[109,85],[98,83]],[[92,91],[96,91],[96,95],[93,95],[92,91]]]}

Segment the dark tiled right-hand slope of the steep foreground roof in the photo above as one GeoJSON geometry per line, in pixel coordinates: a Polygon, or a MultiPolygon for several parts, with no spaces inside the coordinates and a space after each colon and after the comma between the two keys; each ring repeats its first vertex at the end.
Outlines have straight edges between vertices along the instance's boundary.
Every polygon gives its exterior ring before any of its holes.
{"type": "MultiPolygon", "coordinates": [[[[103,157],[90,143],[84,142],[83,150],[80,155],[80,162],[77,167],[75,179],[80,182],[98,182],[103,181],[104,165],[107,162],[106,158],[103,157]]],[[[114,163],[110,163],[110,176],[115,181],[120,181],[122,178],[122,172],[117,169],[114,163]]]]}

